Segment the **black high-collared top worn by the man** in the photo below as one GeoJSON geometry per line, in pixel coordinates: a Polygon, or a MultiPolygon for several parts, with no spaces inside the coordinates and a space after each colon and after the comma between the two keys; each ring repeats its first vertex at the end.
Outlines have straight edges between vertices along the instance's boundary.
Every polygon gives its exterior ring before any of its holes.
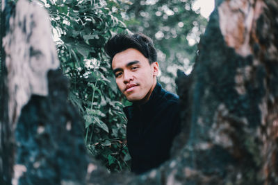
{"type": "Polygon", "coordinates": [[[124,107],[124,113],[131,171],[145,173],[169,159],[172,141],[180,130],[179,97],[156,83],[147,103],[124,107]]]}

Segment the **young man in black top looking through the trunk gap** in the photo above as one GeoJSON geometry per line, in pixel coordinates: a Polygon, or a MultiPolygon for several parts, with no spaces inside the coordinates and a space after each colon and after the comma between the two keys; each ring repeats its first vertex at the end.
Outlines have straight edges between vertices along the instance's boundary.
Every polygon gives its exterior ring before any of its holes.
{"type": "Polygon", "coordinates": [[[115,35],[105,50],[117,87],[133,103],[124,107],[131,171],[145,173],[170,158],[172,141],[180,130],[179,97],[156,81],[156,49],[146,35],[115,35]]]}

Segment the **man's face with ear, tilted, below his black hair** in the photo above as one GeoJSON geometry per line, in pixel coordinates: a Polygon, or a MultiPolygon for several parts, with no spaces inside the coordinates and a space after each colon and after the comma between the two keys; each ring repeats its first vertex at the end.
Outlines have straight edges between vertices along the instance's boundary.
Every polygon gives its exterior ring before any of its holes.
{"type": "Polygon", "coordinates": [[[149,64],[137,49],[126,49],[112,60],[117,87],[131,102],[145,103],[156,86],[158,63],[149,64]]]}

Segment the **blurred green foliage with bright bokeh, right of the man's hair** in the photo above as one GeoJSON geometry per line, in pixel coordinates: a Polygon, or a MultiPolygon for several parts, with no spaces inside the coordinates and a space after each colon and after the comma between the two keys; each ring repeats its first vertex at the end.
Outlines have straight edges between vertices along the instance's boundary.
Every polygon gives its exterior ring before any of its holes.
{"type": "Polygon", "coordinates": [[[177,69],[189,74],[193,69],[199,37],[207,20],[194,10],[194,0],[133,1],[122,14],[132,32],[145,33],[154,40],[161,75],[159,82],[175,92],[177,69]]]}

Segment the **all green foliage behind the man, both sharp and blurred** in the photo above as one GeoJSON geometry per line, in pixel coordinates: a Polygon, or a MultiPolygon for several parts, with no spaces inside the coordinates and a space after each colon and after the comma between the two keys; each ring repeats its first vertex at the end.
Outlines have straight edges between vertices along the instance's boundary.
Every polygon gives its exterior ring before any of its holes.
{"type": "Polygon", "coordinates": [[[38,1],[49,11],[60,68],[70,79],[69,100],[84,118],[88,152],[111,172],[129,170],[122,107],[130,103],[117,89],[104,44],[115,33],[152,37],[158,80],[174,92],[177,69],[190,73],[193,67],[206,19],[193,10],[193,0],[38,1]]]}

